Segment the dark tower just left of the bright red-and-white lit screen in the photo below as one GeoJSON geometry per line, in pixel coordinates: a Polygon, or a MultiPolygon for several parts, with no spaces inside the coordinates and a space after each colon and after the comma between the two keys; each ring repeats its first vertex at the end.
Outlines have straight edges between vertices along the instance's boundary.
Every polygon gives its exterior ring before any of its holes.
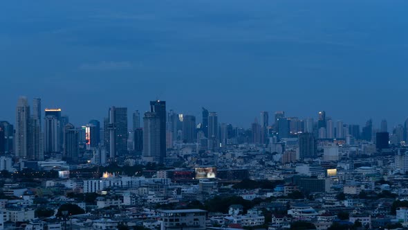
{"type": "Polygon", "coordinates": [[[64,127],[64,158],[76,161],[80,155],[80,136],[74,125],[68,123],[64,127]]]}

